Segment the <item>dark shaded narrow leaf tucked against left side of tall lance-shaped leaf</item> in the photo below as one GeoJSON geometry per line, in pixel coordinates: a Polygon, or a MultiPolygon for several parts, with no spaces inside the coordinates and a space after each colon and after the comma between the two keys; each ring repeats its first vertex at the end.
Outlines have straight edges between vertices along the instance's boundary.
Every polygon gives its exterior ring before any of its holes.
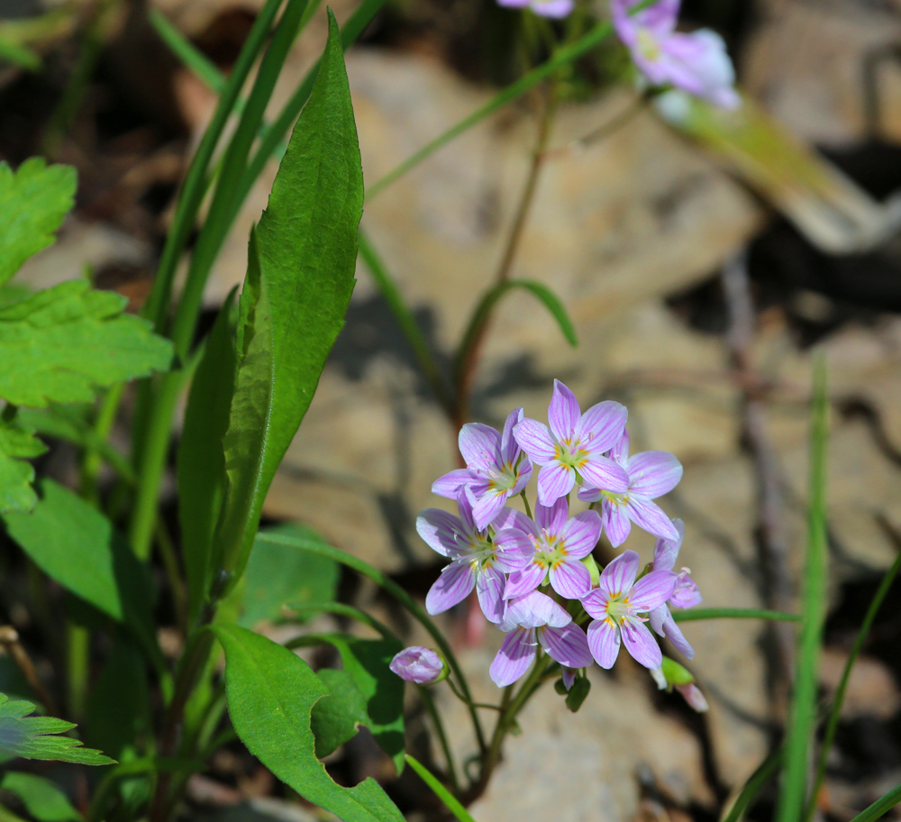
{"type": "Polygon", "coordinates": [[[236,364],[233,299],[234,291],[207,337],[178,443],[178,523],[192,619],[209,589],[213,534],[225,497],[223,437],[228,429],[236,364]]]}

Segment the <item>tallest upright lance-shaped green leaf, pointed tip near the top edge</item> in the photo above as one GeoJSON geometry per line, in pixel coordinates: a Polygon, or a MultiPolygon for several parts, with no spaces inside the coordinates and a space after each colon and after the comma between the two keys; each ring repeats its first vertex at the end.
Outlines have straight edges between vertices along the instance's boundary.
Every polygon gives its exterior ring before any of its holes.
{"type": "Polygon", "coordinates": [[[363,177],[341,35],[322,68],[250,238],[216,559],[241,576],[278,463],[313,399],[353,290],[363,177]]]}

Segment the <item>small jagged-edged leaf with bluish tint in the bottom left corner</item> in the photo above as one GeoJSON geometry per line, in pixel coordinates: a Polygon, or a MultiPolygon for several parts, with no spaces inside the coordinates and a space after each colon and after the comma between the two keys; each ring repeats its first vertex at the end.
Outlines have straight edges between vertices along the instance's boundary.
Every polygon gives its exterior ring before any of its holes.
{"type": "Polygon", "coordinates": [[[0,756],[58,760],[83,765],[113,765],[115,761],[99,751],[84,748],[71,736],[58,736],[75,724],[52,717],[29,717],[31,702],[10,700],[0,694],[0,756]]]}

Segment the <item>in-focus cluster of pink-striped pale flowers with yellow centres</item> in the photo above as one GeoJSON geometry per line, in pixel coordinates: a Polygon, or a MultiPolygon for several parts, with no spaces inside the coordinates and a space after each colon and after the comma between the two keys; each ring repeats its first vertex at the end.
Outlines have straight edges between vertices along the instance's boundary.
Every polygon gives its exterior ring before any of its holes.
{"type": "Polygon", "coordinates": [[[539,646],[560,662],[567,688],[592,662],[612,667],[621,645],[659,669],[663,655],[651,628],[688,659],[694,655],[669,610],[701,600],[689,571],[675,570],[685,529],[653,501],[676,487],[682,466],[666,452],[630,456],[627,416],[625,406],[609,401],[582,413],[555,380],[548,425],[516,408],[503,432],[463,426],[466,468],[432,486],[456,500],[459,516],[428,508],[416,520],[423,540],[450,560],[426,609],[440,614],[476,590],[487,619],[505,632],[490,671],[500,687],[523,676],[539,646]],[[532,516],[525,489],[536,466],[532,516]],[[589,507],[571,516],[576,488],[589,507]],[[516,495],[528,516],[507,505],[516,495]],[[642,571],[638,553],[625,551],[598,571],[591,553],[601,534],[619,546],[633,524],[658,537],[653,562],[642,571]]]}

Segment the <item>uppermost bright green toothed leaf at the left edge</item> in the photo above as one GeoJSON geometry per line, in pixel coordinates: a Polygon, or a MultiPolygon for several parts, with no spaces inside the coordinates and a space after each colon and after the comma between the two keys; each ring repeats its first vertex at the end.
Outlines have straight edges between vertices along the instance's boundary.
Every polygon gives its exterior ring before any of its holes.
{"type": "Polygon", "coordinates": [[[32,157],[14,172],[0,162],[0,283],[53,242],[74,203],[76,186],[71,166],[48,166],[41,157],[32,157]]]}

